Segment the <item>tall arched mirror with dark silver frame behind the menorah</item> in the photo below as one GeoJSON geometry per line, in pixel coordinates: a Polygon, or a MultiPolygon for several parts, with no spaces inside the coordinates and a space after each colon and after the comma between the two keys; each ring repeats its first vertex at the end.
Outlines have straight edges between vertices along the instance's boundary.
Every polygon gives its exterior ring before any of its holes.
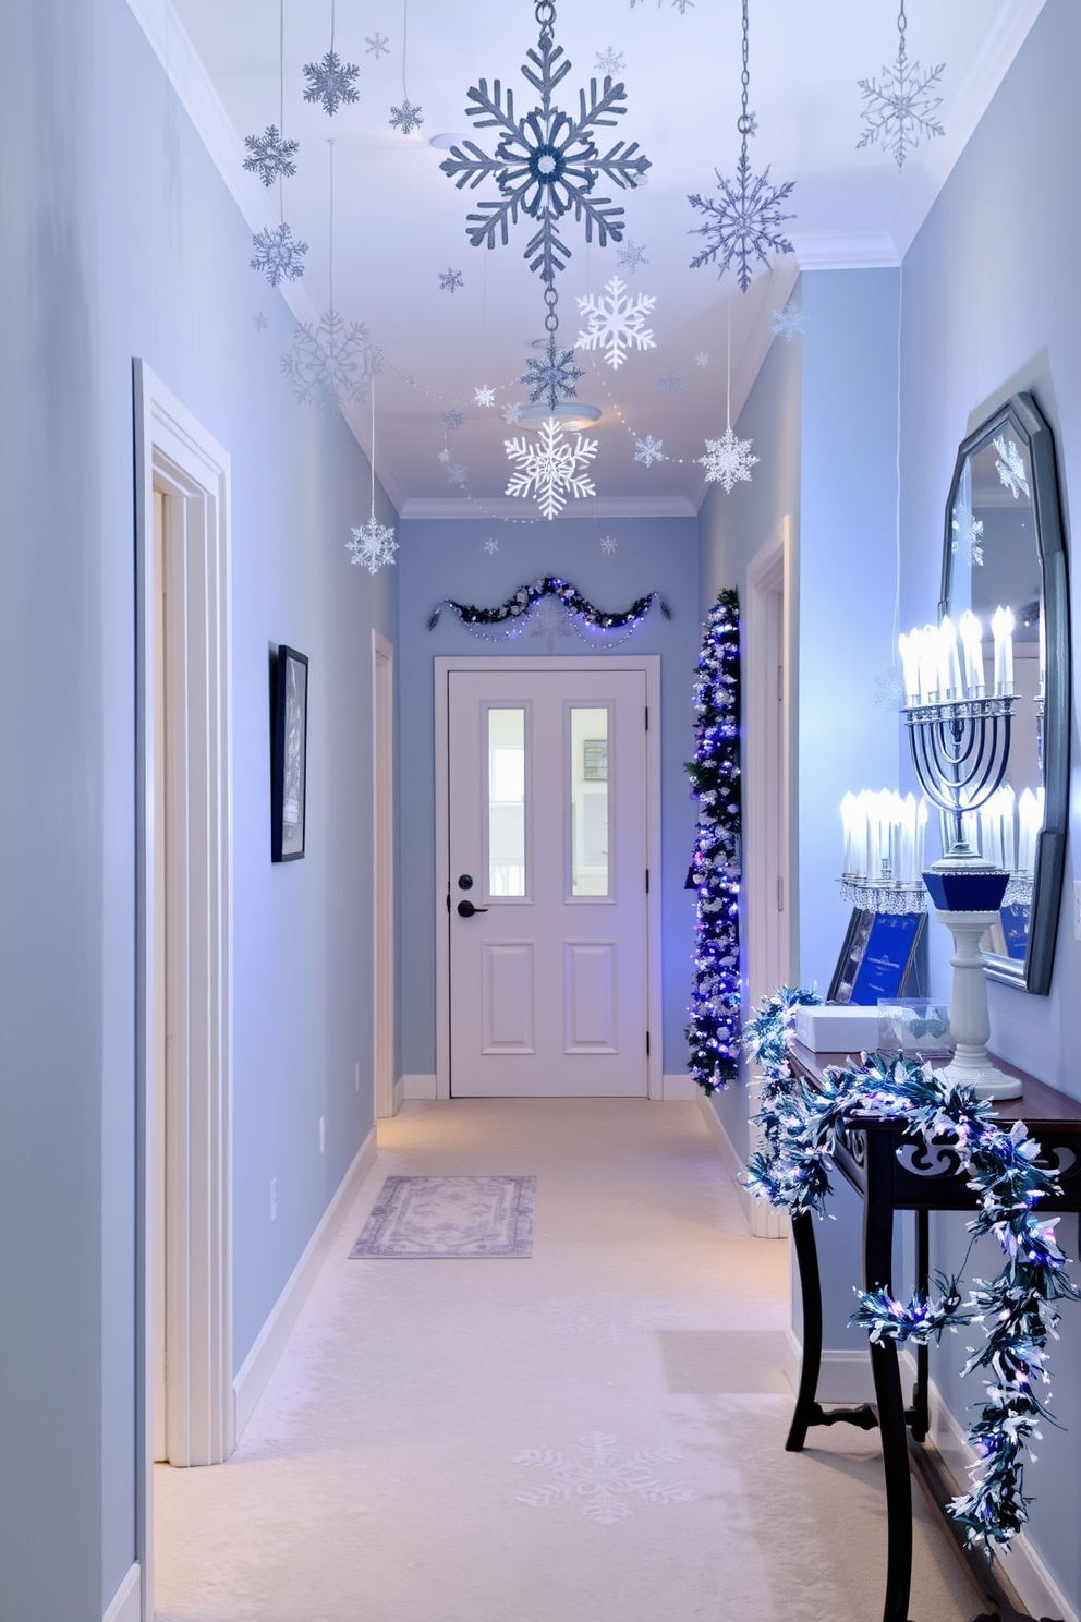
{"type": "Polygon", "coordinates": [[[1070,603],[1055,446],[1031,394],[1013,394],[961,444],[946,501],[942,613],[953,624],[977,615],[989,673],[998,607],[1015,616],[1010,764],[968,832],[1013,878],[984,963],[1047,996],[1066,853],[1070,603]]]}

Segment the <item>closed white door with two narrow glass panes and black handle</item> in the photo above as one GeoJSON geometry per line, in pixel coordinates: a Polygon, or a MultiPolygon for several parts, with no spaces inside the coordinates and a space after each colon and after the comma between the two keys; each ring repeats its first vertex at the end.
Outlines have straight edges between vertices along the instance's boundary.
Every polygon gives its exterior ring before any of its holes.
{"type": "Polygon", "coordinates": [[[451,1093],[647,1096],[647,686],[451,672],[451,1093]]]}

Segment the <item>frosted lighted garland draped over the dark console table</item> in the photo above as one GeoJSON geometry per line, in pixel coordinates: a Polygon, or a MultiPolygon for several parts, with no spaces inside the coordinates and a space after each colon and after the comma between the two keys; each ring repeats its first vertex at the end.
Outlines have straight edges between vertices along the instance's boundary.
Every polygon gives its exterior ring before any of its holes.
{"type": "MultiPolygon", "coordinates": [[[[750,1156],[747,1184],[793,1216],[820,1213],[830,1192],[828,1160],[849,1116],[903,1119],[904,1131],[929,1148],[945,1144],[961,1161],[979,1210],[968,1225],[972,1239],[993,1234],[1005,1252],[997,1278],[976,1280],[968,1301],[958,1278],[935,1280],[937,1299],[914,1294],[895,1301],[887,1289],[857,1289],[852,1317],[872,1341],[938,1341],[943,1328],[982,1324],[984,1345],[963,1372],[985,1372],[987,1400],[968,1439],[979,1458],[972,1487],[953,1499],[950,1513],[968,1528],[968,1541],[1008,1546],[1028,1520],[1021,1455],[1052,1419],[1032,1385],[1050,1384],[1047,1341],[1057,1338],[1055,1301],[1081,1299],[1055,1244],[1055,1223],[1039,1221],[1032,1205],[1058,1192],[1058,1173],[1039,1166],[1039,1145],[1018,1121],[1008,1132],[990,1119],[992,1105],[971,1087],[945,1080],[919,1059],[864,1054],[854,1069],[830,1067],[822,1087],[796,1077],[788,1064],[786,1035],[799,1004],[820,1002],[809,991],[784,986],[763,998],[747,1022],[746,1046],[758,1061],[762,1108],[755,1118],[763,1145],[750,1156]]],[[[1053,1421],[1052,1421],[1053,1422],[1053,1421]]],[[[1034,1457],[1029,1448],[1029,1457],[1034,1457]]]]}

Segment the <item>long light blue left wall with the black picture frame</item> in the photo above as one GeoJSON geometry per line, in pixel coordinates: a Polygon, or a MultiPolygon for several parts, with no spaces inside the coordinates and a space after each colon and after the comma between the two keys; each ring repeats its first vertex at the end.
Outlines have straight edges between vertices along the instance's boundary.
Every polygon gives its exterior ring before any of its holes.
{"type": "Polygon", "coordinates": [[[0,1616],[99,1622],[135,1555],[133,355],[232,454],[238,1362],[371,1124],[397,579],[348,566],[365,459],[293,404],[292,320],[125,0],[0,8],[0,1616]],[[310,855],[282,868],[277,641],[311,655],[310,855]]]}

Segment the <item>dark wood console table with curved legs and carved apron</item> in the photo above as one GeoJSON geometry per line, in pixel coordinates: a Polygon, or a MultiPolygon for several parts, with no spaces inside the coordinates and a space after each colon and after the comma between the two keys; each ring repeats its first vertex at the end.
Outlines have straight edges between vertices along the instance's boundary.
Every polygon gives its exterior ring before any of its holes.
{"type": "MultiPolygon", "coordinates": [[[[789,1056],[794,1069],[812,1085],[822,1080],[830,1064],[851,1064],[844,1053],[812,1053],[801,1043],[793,1043],[789,1056]]],[[[859,1061],[856,1061],[859,1062],[859,1061]]],[[[1062,1194],[1053,1200],[1040,1200],[1039,1210],[1081,1212],[1081,1103],[1066,1093],[1037,1082],[1010,1064],[995,1061],[1003,1071],[1018,1075],[1024,1085],[1021,1098],[997,1103],[993,1118],[1003,1124],[1024,1121],[1029,1134],[1040,1144],[1042,1158],[1060,1169],[1062,1194]]],[[[972,1212],[976,1199],[959,1174],[961,1161],[948,1140],[942,1147],[927,1148],[922,1142],[906,1137],[903,1121],[878,1116],[856,1116],[848,1122],[836,1145],[838,1171],[856,1189],[864,1202],[864,1288],[885,1288],[893,1293],[893,1216],[895,1212],[916,1212],[916,1273],[917,1288],[927,1291],[930,1275],[929,1213],[972,1212]]],[[[823,1410],[817,1400],[818,1371],[822,1362],[822,1294],[818,1283],[818,1255],[815,1249],[815,1218],[797,1216],[793,1221],[799,1283],[804,1304],[804,1356],[796,1398],[796,1413],[788,1435],[789,1452],[799,1452],[807,1440],[807,1431],[818,1424],[857,1424],[862,1429],[882,1432],[882,1461],[887,1487],[887,1593],[883,1622],[908,1622],[908,1603],[912,1575],[912,1481],[911,1471],[921,1478],[924,1491],[946,1530],[955,1549],[964,1560],[969,1577],[984,1601],[984,1611],[974,1622],[1031,1622],[1031,1614],[998,1570],[979,1551],[966,1549],[964,1528],[946,1513],[948,1500],[959,1491],[951,1481],[935,1448],[927,1445],[929,1427],[929,1353],[925,1346],[916,1353],[916,1387],[912,1403],[906,1408],[901,1392],[901,1371],[895,1341],[883,1340],[870,1346],[870,1364],[875,1382],[875,1406],[823,1410]]],[[[1049,1622],[1049,1619],[1040,1619],[1049,1622]]]]}

